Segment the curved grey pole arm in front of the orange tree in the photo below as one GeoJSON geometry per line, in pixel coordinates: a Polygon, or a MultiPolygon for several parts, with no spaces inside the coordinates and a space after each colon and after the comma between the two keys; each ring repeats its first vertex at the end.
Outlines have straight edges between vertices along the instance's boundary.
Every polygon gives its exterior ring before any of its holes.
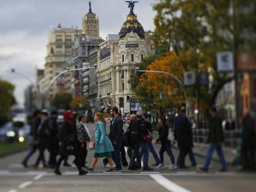
{"type": "Polygon", "coordinates": [[[188,99],[187,99],[187,93],[186,93],[186,91],[185,91],[185,87],[184,87],[182,81],[179,80],[179,78],[177,78],[175,75],[173,75],[173,74],[171,74],[171,73],[163,72],[163,71],[161,71],[161,70],[139,70],[139,67],[136,67],[136,68],[135,68],[135,71],[136,71],[136,72],[147,72],[147,73],[162,73],[162,74],[169,75],[169,76],[171,76],[172,78],[174,78],[174,80],[177,81],[179,87],[181,88],[181,90],[182,90],[182,92],[183,92],[183,94],[184,94],[184,97],[185,97],[185,100],[186,100],[186,115],[187,115],[187,117],[188,117],[189,111],[188,111],[187,108],[189,107],[189,103],[188,103],[189,101],[188,101],[188,99]]]}

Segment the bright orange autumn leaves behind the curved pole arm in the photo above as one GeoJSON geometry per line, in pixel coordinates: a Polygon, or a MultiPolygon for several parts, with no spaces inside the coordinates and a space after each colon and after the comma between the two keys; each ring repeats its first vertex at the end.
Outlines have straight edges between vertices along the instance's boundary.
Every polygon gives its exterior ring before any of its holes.
{"type": "MultiPolygon", "coordinates": [[[[147,70],[168,72],[182,80],[185,69],[180,58],[177,57],[175,52],[167,52],[161,59],[156,59],[147,70]]],[[[173,77],[161,73],[146,72],[140,77],[141,88],[147,88],[148,91],[153,93],[154,99],[159,107],[164,107],[171,103],[182,104],[184,103],[183,94],[173,77]],[[160,94],[162,95],[160,98],[160,94]]]]}

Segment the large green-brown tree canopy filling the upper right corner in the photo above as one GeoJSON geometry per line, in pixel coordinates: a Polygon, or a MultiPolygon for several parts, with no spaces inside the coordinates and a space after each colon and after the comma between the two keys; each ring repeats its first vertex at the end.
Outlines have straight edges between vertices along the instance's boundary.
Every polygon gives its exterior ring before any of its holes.
{"type": "MultiPolygon", "coordinates": [[[[164,59],[170,47],[177,54],[177,61],[186,71],[210,72],[213,81],[210,89],[201,87],[200,107],[206,108],[215,102],[218,91],[233,80],[233,74],[218,73],[216,54],[220,51],[254,51],[256,41],[250,33],[256,30],[256,2],[250,0],[159,0],[153,5],[156,11],[155,31],[151,32],[157,56],[164,59]],[[234,9],[235,14],[234,14],[234,9]],[[235,23],[235,25],[234,25],[235,23]],[[233,41],[234,36],[237,41],[233,41]],[[235,44],[234,44],[235,43],[235,44]]],[[[155,62],[147,62],[146,68],[155,62]]],[[[172,65],[169,62],[169,65],[172,65]]],[[[143,68],[143,67],[142,67],[143,68]]],[[[157,67],[155,67],[155,70],[157,67]]],[[[182,71],[183,72],[183,71],[182,71]]],[[[182,74],[177,74],[182,78],[182,74]]],[[[138,96],[151,96],[147,83],[141,85],[139,77],[131,82],[138,85],[138,96]]],[[[190,101],[195,101],[195,90],[188,88],[190,101]]]]}

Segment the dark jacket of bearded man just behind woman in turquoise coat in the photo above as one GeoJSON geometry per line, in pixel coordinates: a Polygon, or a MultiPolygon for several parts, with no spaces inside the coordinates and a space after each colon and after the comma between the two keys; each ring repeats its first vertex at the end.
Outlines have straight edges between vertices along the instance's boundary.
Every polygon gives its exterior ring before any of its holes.
{"type": "Polygon", "coordinates": [[[121,116],[117,116],[111,120],[110,131],[109,131],[109,139],[114,142],[120,143],[122,141],[122,133],[124,130],[122,129],[123,122],[121,116]]]}

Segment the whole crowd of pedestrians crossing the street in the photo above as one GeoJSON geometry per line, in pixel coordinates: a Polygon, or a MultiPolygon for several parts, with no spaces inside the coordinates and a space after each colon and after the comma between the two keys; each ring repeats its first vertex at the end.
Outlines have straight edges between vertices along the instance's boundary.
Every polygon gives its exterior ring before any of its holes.
{"type": "MultiPolygon", "coordinates": [[[[142,169],[145,171],[163,169],[164,152],[166,152],[169,163],[169,170],[173,169],[189,169],[185,164],[186,157],[189,156],[191,166],[196,166],[195,156],[193,152],[193,135],[192,123],[186,117],[186,108],[184,106],[179,110],[179,114],[174,118],[173,129],[167,125],[166,117],[158,118],[158,138],[153,138],[150,119],[147,113],[137,111],[137,114],[130,115],[129,127],[124,130],[124,121],[117,107],[112,107],[110,110],[112,120],[110,121],[109,133],[107,133],[106,120],[103,114],[96,112],[94,121],[96,128],[90,133],[84,115],[75,114],[75,112],[64,112],[64,122],[58,123],[58,112],[51,111],[49,117],[47,111],[35,111],[33,114],[33,123],[30,131],[28,142],[30,149],[22,161],[24,167],[28,167],[28,159],[33,153],[38,151],[38,157],[31,166],[37,168],[40,162],[43,167],[54,169],[56,175],[61,175],[60,166],[63,163],[65,166],[70,166],[67,163],[69,156],[75,156],[74,164],[76,165],[79,175],[93,172],[98,158],[103,158],[103,166],[109,164],[107,172],[122,172],[122,168],[127,167],[129,170],[142,169]],[[179,148],[179,154],[175,158],[171,149],[173,140],[169,139],[173,133],[179,148]],[[93,160],[87,167],[88,143],[90,149],[94,149],[93,160]],[[154,144],[160,144],[160,151],[156,152],[154,144]],[[49,152],[49,159],[46,162],[45,151],[49,152]],[[126,152],[129,156],[129,161],[126,159],[126,152]],[[150,153],[155,160],[150,167],[148,164],[150,153]],[[159,154],[159,156],[158,156],[159,154]]],[[[247,134],[244,134],[244,142],[242,149],[242,157],[247,164],[243,164],[245,169],[254,167],[255,157],[250,146],[255,141],[252,140],[254,132],[254,119],[244,112],[243,121],[244,127],[247,129],[247,134]]],[[[218,117],[216,107],[210,108],[210,118],[208,119],[208,149],[205,157],[205,163],[198,170],[207,172],[211,162],[213,151],[217,151],[220,158],[220,171],[226,172],[228,166],[224,157],[222,144],[224,142],[223,128],[221,119],[218,117]]],[[[246,130],[245,129],[245,130],[246,130]]]]}

